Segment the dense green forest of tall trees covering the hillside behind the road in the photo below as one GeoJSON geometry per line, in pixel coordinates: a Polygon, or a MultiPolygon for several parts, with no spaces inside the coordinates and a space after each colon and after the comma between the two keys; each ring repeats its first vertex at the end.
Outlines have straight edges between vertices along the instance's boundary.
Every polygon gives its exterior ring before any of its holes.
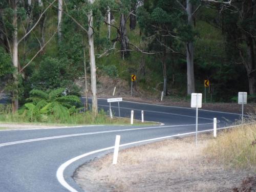
{"type": "Polygon", "coordinates": [[[101,75],[183,97],[209,79],[215,102],[253,101],[255,64],[254,0],[0,0],[0,91],[13,113],[35,90],[65,88],[90,89],[97,114],[101,75]]]}

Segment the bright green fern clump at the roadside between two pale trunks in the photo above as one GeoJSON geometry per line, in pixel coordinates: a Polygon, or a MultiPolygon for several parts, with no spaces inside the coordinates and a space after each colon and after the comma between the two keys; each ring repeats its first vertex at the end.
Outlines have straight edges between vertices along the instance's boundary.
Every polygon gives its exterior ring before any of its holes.
{"type": "Polygon", "coordinates": [[[49,91],[31,90],[30,97],[19,114],[27,116],[29,121],[47,121],[48,118],[54,118],[57,121],[65,121],[70,115],[77,112],[81,106],[78,96],[66,95],[66,89],[59,88],[49,91]]]}

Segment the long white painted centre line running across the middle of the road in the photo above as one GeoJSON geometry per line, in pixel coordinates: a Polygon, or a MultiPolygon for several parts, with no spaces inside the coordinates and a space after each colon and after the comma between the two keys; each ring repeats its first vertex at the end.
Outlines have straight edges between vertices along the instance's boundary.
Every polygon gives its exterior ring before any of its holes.
{"type": "MultiPolygon", "coordinates": [[[[213,124],[212,123],[202,123],[199,125],[206,125],[206,124],[213,124]]],[[[153,127],[141,127],[141,128],[133,128],[133,129],[125,129],[125,130],[111,130],[111,131],[102,131],[102,132],[90,132],[90,133],[80,133],[80,134],[70,134],[70,135],[59,135],[53,137],[42,137],[36,139],[27,139],[27,140],[20,140],[20,141],[13,141],[7,143],[0,143],[0,147],[14,145],[14,144],[21,144],[21,143],[28,143],[28,142],[35,142],[35,141],[43,141],[43,140],[50,140],[50,139],[59,139],[59,138],[67,138],[67,137],[77,137],[77,136],[84,136],[84,135],[95,135],[95,134],[102,134],[102,133],[113,133],[113,132],[125,132],[125,131],[137,131],[137,130],[151,130],[151,129],[161,129],[167,127],[179,127],[179,126],[193,126],[195,124],[186,124],[186,125],[167,125],[167,126],[153,126],[153,127]]]]}

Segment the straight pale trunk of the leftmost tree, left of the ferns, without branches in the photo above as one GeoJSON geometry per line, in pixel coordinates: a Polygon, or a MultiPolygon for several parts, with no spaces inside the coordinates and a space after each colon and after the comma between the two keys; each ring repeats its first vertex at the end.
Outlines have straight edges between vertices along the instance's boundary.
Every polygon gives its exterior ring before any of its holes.
{"type": "Polygon", "coordinates": [[[12,33],[12,63],[14,66],[14,86],[13,98],[12,98],[12,112],[15,113],[18,110],[18,31],[17,31],[17,0],[13,2],[13,33],[12,33]]]}

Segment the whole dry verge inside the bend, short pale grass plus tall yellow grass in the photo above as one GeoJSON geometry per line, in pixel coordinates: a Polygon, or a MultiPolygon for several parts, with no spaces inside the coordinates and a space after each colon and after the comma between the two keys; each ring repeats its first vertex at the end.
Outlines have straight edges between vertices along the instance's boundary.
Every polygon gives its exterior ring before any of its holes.
{"type": "Polygon", "coordinates": [[[74,178],[88,191],[255,190],[255,131],[252,125],[217,139],[199,135],[197,147],[195,137],[132,147],[119,153],[117,165],[106,155],[79,167],[74,178]]]}

